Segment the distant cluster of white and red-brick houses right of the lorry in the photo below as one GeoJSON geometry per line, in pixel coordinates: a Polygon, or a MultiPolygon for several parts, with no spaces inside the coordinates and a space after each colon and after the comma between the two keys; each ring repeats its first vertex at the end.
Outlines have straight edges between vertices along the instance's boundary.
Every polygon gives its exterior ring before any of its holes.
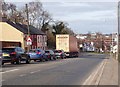
{"type": "MultiPolygon", "coordinates": [[[[79,40],[79,44],[84,45],[84,50],[94,50],[100,52],[100,49],[102,49],[103,51],[110,51],[110,46],[112,44],[111,34],[89,33],[79,34],[76,37],[79,40]]],[[[115,44],[115,41],[113,44],[115,44]]]]}

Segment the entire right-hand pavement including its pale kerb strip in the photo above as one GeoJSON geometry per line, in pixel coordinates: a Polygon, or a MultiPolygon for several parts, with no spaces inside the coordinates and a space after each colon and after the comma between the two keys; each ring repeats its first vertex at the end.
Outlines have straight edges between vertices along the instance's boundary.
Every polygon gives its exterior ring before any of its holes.
{"type": "Polygon", "coordinates": [[[84,85],[114,85],[118,87],[118,64],[115,58],[106,57],[88,77],[84,85]]]}

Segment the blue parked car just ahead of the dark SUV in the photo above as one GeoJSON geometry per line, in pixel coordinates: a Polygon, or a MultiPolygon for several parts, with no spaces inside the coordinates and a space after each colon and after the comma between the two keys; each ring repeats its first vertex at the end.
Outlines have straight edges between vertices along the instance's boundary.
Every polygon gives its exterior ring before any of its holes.
{"type": "Polygon", "coordinates": [[[47,60],[45,57],[45,51],[42,49],[31,49],[27,54],[30,56],[30,60],[40,60],[44,61],[47,60]]]}

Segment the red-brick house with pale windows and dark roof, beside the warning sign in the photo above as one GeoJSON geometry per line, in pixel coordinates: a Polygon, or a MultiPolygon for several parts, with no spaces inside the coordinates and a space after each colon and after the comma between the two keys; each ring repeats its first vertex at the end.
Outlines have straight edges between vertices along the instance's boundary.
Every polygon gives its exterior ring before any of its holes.
{"type": "MultiPolygon", "coordinates": [[[[28,31],[27,25],[25,25],[25,24],[17,23],[17,26],[24,28],[24,30],[26,30],[26,32],[28,31]]],[[[30,48],[31,49],[41,48],[41,49],[45,50],[47,48],[46,34],[31,25],[29,26],[29,29],[30,29],[30,38],[32,40],[32,46],[30,46],[30,48]]],[[[24,39],[25,39],[25,49],[27,50],[27,44],[26,44],[27,33],[26,32],[24,32],[24,34],[25,34],[24,39]]]]}

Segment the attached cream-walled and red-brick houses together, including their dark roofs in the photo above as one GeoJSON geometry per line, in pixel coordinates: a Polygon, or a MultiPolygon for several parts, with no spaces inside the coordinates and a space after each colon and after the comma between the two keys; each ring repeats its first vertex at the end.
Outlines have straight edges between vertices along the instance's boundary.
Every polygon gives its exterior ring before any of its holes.
{"type": "MultiPolygon", "coordinates": [[[[0,31],[2,33],[0,41],[2,42],[2,47],[21,46],[25,50],[28,49],[26,44],[28,35],[27,25],[14,23],[3,18],[2,22],[0,22],[0,26],[0,31]]],[[[32,39],[32,45],[30,46],[30,49],[41,48],[45,50],[47,48],[46,34],[31,25],[29,27],[30,37],[32,39]]]]}

